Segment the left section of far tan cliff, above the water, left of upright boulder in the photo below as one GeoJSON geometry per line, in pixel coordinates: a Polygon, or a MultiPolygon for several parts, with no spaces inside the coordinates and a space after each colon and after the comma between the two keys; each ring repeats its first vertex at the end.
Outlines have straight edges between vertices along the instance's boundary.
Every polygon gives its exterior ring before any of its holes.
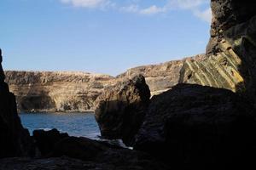
{"type": "Polygon", "coordinates": [[[113,77],[84,72],[6,71],[6,81],[17,96],[19,111],[93,111],[113,77]]]}

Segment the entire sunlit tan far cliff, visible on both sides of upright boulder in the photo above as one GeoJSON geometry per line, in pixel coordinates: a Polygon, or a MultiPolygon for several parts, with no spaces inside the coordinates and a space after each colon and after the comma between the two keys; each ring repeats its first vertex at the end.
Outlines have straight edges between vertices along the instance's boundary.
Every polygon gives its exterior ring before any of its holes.
{"type": "MultiPolygon", "coordinates": [[[[193,59],[203,57],[201,54],[193,59]]],[[[63,71],[6,71],[5,75],[19,111],[84,112],[95,110],[96,99],[103,91],[139,74],[145,77],[152,96],[171,89],[185,60],[132,68],[118,77],[63,71]]]]}

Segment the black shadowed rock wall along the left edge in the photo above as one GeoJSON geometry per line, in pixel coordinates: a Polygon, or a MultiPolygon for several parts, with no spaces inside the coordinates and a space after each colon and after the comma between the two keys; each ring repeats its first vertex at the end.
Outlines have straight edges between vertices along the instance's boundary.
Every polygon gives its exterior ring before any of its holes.
{"type": "Polygon", "coordinates": [[[30,156],[33,154],[32,139],[21,126],[15,95],[9,93],[8,84],[4,82],[1,49],[0,56],[0,158],[30,156]]]}

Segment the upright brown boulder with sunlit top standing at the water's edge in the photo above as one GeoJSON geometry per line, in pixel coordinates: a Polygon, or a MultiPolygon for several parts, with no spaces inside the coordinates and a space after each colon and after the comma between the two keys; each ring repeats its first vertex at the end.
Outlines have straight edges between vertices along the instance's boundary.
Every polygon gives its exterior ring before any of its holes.
{"type": "Polygon", "coordinates": [[[106,90],[99,97],[95,111],[102,137],[123,139],[130,145],[143,122],[149,98],[150,91],[142,75],[106,90]]]}

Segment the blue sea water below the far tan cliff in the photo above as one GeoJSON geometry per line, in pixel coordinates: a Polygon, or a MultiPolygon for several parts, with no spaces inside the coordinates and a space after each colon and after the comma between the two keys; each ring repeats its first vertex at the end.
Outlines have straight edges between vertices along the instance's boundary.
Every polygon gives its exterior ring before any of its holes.
{"type": "Polygon", "coordinates": [[[35,129],[56,128],[70,136],[99,139],[100,135],[93,113],[21,113],[20,119],[31,134],[35,129]]]}

